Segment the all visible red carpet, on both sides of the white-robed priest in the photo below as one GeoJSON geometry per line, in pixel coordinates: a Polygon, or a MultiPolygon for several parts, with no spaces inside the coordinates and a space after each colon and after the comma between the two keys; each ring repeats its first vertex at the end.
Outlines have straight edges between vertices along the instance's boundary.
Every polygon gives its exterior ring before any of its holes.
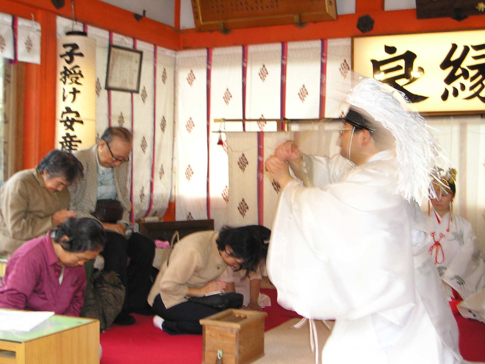
{"type": "MultiPolygon", "coordinates": [[[[276,290],[261,289],[271,298],[272,305],[264,311],[265,330],[269,330],[300,317],[293,311],[287,311],[276,302],[276,290]]],[[[464,318],[456,309],[457,301],[450,302],[458,328],[460,330],[460,352],[466,360],[485,362],[485,324],[464,318]]],[[[152,316],[135,314],[133,326],[113,325],[100,334],[103,356],[100,364],[200,364],[202,361],[202,335],[174,335],[155,329],[152,316]]]]}

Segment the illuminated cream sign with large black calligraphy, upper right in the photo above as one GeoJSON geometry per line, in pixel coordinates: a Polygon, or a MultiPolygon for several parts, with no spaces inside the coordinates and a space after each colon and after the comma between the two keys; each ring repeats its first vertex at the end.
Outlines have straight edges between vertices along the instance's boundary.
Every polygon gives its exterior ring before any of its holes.
{"type": "Polygon", "coordinates": [[[427,115],[485,112],[485,31],[357,37],[354,71],[388,83],[427,115]]]}

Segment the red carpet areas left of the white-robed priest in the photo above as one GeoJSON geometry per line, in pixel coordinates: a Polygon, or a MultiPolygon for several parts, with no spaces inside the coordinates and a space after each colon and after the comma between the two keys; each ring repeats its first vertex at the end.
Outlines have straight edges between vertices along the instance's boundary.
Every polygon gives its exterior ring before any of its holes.
{"type": "MultiPolygon", "coordinates": [[[[300,317],[287,311],[276,302],[276,290],[261,289],[271,298],[271,306],[264,308],[268,313],[264,328],[269,330],[300,317]]],[[[100,334],[103,355],[100,364],[200,364],[202,361],[202,335],[169,335],[153,327],[153,316],[134,314],[136,323],[132,326],[113,325],[100,334]]]]}

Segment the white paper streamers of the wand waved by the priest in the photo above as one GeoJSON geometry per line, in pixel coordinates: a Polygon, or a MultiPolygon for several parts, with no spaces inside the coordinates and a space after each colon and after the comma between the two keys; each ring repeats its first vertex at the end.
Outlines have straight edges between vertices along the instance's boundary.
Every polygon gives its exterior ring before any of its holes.
{"type": "MultiPolygon", "coordinates": [[[[363,109],[383,125],[394,137],[397,187],[404,199],[421,204],[424,197],[436,198],[430,191],[432,180],[439,180],[436,165],[446,160],[442,149],[429,132],[429,126],[419,113],[410,109],[404,94],[371,78],[360,82],[347,96],[347,102],[363,109]]],[[[351,106],[352,107],[352,106],[351,106]]]]}

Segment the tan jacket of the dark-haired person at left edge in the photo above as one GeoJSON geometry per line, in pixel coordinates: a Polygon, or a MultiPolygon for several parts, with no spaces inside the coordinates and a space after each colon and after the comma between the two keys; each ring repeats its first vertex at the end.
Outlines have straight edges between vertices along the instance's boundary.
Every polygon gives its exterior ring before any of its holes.
{"type": "Polygon", "coordinates": [[[36,168],[25,169],[0,188],[0,256],[10,258],[27,240],[52,230],[52,215],[69,209],[69,191],[52,193],[36,168]]]}

